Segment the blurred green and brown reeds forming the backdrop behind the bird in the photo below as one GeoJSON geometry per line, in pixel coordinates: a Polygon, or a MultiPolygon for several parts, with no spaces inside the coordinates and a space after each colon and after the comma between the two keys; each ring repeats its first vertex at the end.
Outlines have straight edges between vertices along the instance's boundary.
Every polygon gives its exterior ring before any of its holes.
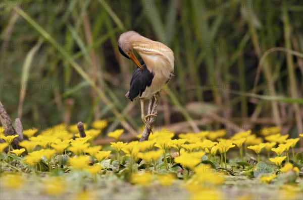
{"type": "Polygon", "coordinates": [[[117,48],[120,34],[134,30],[175,54],[156,125],[170,123],[176,132],[226,123],[235,125],[230,131],[264,125],[303,131],[303,1],[0,6],[1,101],[27,128],[104,118],[114,126],[140,122],[139,102],[124,97],[134,64],[117,48]]]}

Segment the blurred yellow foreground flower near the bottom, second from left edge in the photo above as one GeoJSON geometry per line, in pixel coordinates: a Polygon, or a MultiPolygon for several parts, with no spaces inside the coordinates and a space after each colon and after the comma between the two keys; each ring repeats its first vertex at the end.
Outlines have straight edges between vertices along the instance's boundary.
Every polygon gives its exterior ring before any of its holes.
{"type": "Polygon", "coordinates": [[[65,180],[59,176],[49,177],[43,181],[43,189],[48,195],[57,196],[64,193],[68,188],[65,180]]]}

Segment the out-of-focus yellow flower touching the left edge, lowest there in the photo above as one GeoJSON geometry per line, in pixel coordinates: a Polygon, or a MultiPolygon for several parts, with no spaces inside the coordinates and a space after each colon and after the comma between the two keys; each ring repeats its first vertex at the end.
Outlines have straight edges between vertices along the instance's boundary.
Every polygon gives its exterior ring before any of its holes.
{"type": "Polygon", "coordinates": [[[21,176],[21,173],[14,174],[4,174],[1,176],[1,185],[5,187],[18,189],[24,186],[24,178],[21,176]]]}

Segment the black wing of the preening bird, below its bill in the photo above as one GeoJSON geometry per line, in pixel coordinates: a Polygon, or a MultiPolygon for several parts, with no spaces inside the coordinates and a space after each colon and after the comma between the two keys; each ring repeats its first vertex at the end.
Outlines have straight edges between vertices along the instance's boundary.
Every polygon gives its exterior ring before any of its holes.
{"type": "Polygon", "coordinates": [[[134,70],[130,81],[130,89],[126,94],[126,97],[131,101],[133,101],[137,96],[141,97],[146,87],[149,87],[151,85],[151,81],[154,79],[154,73],[150,72],[146,68],[146,64],[142,59],[140,60],[140,63],[142,64],[143,70],[139,67],[134,70]]]}

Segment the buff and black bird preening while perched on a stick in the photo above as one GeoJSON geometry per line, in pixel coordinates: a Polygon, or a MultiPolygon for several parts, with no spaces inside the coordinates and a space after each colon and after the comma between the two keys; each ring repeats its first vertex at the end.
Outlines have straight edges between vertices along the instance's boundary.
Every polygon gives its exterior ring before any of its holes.
{"type": "Polygon", "coordinates": [[[120,35],[118,49],[124,57],[131,59],[136,65],[130,81],[130,89],[125,97],[131,101],[140,98],[141,119],[153,132],[146,119],[157,115],[144,114],[144,100],[154,97],[158,102],[157,96],[160,90],[171,79],[174,72],[174,52],[162,42],[150,40],[135,31],[127,31],[120,35]],[[134,50],[141,57],[140,61],[135,56],[134,50]]]}

